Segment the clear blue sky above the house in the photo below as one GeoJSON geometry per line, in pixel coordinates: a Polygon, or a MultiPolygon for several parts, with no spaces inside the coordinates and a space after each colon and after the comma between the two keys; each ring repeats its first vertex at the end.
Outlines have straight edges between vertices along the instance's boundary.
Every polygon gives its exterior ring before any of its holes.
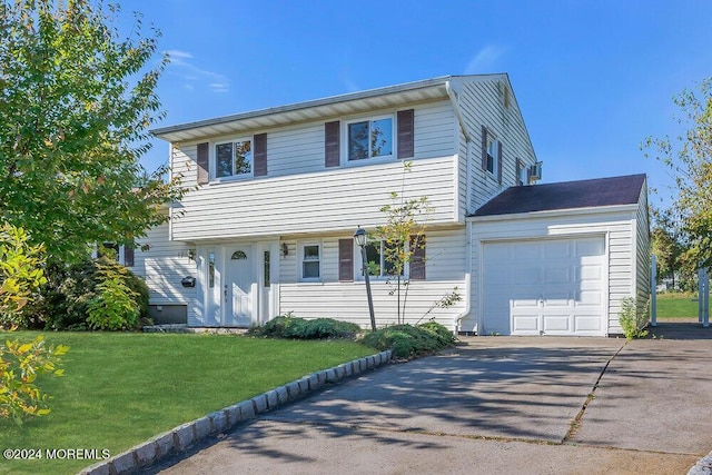
{"type": "MultiPolygon", "coordinates": [[[[119,0],[162,32],[160,127],[446,75],[507,72],[542,182],[645,172],[712,76],[706,0],[119,0]]],[[[166,162],[157,140],[147,168],[166,162]]]]}

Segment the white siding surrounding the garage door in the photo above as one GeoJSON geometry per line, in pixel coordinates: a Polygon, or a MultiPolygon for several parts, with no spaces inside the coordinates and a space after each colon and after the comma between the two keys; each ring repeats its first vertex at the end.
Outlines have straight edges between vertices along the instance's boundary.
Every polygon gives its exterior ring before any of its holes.
{"type": "MultiPolygon", "coordinates": [[[[605,235],[607,249],[607,331],[622,333],[619,324],[621,300],[631,296],[635,288],[634,246],[636,241],[635,216],[637,207],[623,207],[625,210],[604,212],[602,210],[546,212],[538,216],[512,215],[495,219],[473,219],[472,253],[472,309],[471,316],[463,320],[462,330],[473,331],[477,326],[477,316],[482,311],[479,296],[483,283],[481,254],[484,243],[497,240],[574,238],[592,235],[605,235]]],[[[621,208],[619,208],[621,209],[621,208]]]]}

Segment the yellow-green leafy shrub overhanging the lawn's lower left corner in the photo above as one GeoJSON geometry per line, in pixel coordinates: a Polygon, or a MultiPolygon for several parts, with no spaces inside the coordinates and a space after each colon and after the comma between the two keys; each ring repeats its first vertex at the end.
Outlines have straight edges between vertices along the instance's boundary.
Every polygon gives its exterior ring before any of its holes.
{"type": "Polygon", "coordinates": [[[49,414],[50,396],[34,382],[38,375],[61,376],[58,365],[68,349],[63,345],[46,347],[41,335],[22,345],[17,340],[0,345],[0,417],[12,417],[21,425],[27,416],[49,414]]]}

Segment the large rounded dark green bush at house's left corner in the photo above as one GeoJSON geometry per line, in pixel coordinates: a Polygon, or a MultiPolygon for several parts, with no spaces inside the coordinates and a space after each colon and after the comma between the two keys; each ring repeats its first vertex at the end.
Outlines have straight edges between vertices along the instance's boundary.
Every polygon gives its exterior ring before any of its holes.
{"type": "MultiPolygon", "coordinates": [[[[140,327],[148,318],[148,286],[121,264],[107,257],[88,259],[71,266],[53,265],[48,268],[48,285],[42,288],[41,300],[33,307],[38,319],[51,329],[86,330],[101,328],[101,318],[93,314],[103,299],[117,300],[117,291],[130,295],[130,308],[126,307],[123,319],[128,325],[118,327],[131,329],[140,327]],[[115,283],[106,285],[107,280],[115,283]],[[120,283],[120,284],[118,284],[120,283]],[[108,286],[108,287],[107,287],[108,286]],[[115,295],[111,297],[111,295],[115,295]],[[102,297],[103,296],[103,297],[102,297]],[[134,315],[138,313],[138,318],[134,315]]],[[[120,306],[119,306],[120,307],[120,306]]],[[[115,310],[112,310],[115,311],[115,310]]],[[[117,314],[113,314],[116,317],[117,314]]],[[[109,325],[105,328],[110,329],[109,325]]]]}

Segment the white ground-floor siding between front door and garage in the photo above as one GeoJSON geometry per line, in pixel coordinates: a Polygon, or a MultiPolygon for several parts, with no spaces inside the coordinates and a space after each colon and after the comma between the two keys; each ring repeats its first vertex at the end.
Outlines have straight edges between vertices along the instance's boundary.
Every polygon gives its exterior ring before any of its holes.
{"type": "MultiPolygon", "coordinates": [[[[363,327],[369,326],[366,287],[363,280],[354,283],[338,281],[338,240],[350,238],[352,234],[322,237],[323,283],[304,283],[297,278],[299,259],[291,250],[279,259],[281,281],[279,285],[280,313],[294,311],[305,318],[330,317],[354,321],[363,327]]],[[[284,243],[289,249],[297,247],[296,239],[284,243]]],[[[406,319],[416,323],[433,304],[458,287],[463,297],[453,307],[433,309],[422,321],[435,318],[436,321],[454,329],[454,319],[464,310],[465,296],[465,227],[452,230],[427,229],[428,257],[426,264],[427,280],[413,280],[409,285],[406,305],[406,319]]],[[[360,266],[359,249],[354,249],[354,265],[360,266]]],[[[396,297],[389,295],[393,285],[385,280],[373,280],[374,309],[376,324],[385,326],[396,321],[396,297]]]]}

